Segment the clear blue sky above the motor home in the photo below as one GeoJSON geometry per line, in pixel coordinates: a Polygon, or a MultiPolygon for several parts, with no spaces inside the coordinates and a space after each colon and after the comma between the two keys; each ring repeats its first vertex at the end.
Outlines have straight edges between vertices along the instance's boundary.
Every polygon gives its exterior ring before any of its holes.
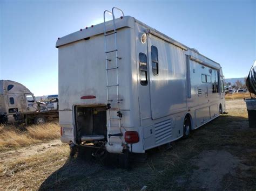
{"type": "Polygon", "coordinates": [[[36,96],[58,93],[58,37],[101,23],[117,6],[244,77],[256,59],[256,1],[0,0],[0,79],[36,96]]]}

